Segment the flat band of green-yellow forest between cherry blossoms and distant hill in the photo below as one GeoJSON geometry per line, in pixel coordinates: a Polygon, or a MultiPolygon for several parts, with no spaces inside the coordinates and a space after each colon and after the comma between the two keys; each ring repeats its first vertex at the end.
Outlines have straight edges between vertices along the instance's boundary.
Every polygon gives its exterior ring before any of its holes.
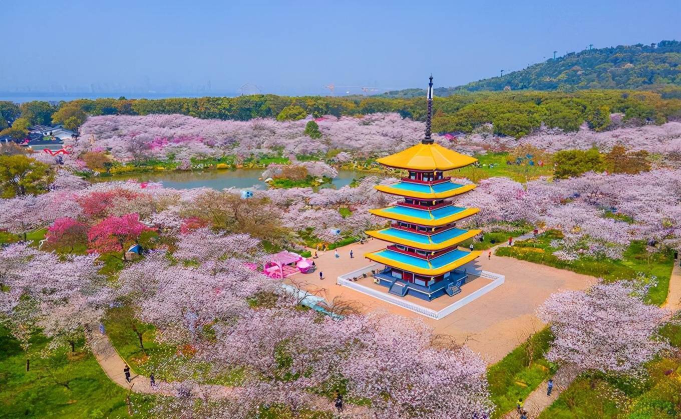
{"type": "MultiPolygon", "coordinates": [[[[433,129],[436,132],[471,132],[493,124],[499,135],[521,137],[543,122],[548,127],[576,131],[587,122],[592,129],[607,129],[609,114],[622,113],[624,120],[662,124],[681,120],[681,88],[664,92],[639,90],[577,90],[573,93],[535,90],[458,93],[434,99],[433,129]]],[[[424,120],[426,98],[382,97],[282,97],[250,95],[180,99],[79,99],[48,103],[33,101],[16,105],[0,101],[0,135],[21,137],[32,124],[63,124],[78,129],[88,116],[185,114],[197,118],[250,120],[276,118],[300,120],[308,115],[361,116],[398,112],[402,117],[424,120]]]]}

